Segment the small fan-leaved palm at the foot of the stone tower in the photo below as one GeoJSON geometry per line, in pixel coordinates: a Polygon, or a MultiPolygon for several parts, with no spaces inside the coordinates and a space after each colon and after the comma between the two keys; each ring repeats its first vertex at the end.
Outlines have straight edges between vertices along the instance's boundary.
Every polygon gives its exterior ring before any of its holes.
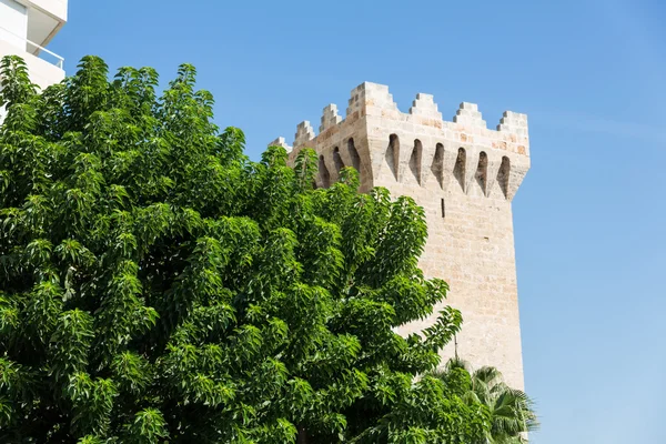
{"type": "Polygon", "coordinates": [[[470,364],[452,359],[443,370],[432,375],[448,386],[468,405],[485,405],[491,412],[490,444],[527,443],[527,432],[538,428],[534,402],[522,391],[504,382],[502,373],[492,366],[470,370],[470,364]]]}

